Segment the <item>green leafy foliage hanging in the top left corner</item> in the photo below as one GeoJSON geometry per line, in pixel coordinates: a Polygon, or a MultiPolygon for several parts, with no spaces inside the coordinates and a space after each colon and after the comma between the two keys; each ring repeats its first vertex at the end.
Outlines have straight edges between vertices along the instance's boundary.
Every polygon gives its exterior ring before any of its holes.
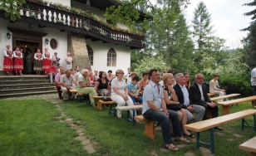
{"type": "Polygon", "coordinates": [[[0,2],[0,10],[4,11],[6,17],[10,17],[11,21],[21,18],[20,6],[26,3],[26,0],[2,0],[0,2]]]}

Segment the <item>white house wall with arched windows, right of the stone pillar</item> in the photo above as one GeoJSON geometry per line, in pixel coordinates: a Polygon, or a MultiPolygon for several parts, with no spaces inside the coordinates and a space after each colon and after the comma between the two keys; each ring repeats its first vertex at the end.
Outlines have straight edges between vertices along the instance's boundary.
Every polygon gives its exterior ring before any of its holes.
{"type": "Polygon", "coordinates": [[[116,70],[121,69],[127,71],[130,67],[130,47],[115,45],[111,43],[103,43],[102,41],[91,41],[86,40],[86,44],[91,46],[93,51],[93,66],[91,70],[98,71],[113,71],[115,74],[116,70]],[[107,52],[113,48],[116,51],[116,66],[106,66],[107,52]]]}

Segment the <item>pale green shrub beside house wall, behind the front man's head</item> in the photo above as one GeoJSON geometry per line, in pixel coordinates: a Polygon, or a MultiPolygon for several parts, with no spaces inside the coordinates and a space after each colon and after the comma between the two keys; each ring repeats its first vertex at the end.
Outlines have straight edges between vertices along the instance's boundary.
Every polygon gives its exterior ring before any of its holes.
{"type": "Polygon", "coordinates": [[[164,56],[144,56],[142,60],[139,61],[138,64],[133,63],[135,66],[135,72],[137,72],[138,76],[142,76],[142,73],[147,72],[148,69],[155,68],[160,73],[165,71],[167,64],[165,63],[164,56]]]}

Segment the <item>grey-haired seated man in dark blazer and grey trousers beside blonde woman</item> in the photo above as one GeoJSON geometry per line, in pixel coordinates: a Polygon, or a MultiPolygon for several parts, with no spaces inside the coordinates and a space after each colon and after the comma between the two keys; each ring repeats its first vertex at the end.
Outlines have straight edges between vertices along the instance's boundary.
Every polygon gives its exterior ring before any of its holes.
{"type": "Polygon", "coordinates": [[[194,119],[194,122],[201,121],[204,118],[205,109],[201,105],[192,105],[190,95],[187,87],[185,86],[185,76],[182,73],[175,75],[177,84],[174,86],[175,93],[178,97],[180,104],[184,105],[184,109],[187,111],[188,123],[194,119]],[[195,113],[195,118],[192,113],[195,113]]]}

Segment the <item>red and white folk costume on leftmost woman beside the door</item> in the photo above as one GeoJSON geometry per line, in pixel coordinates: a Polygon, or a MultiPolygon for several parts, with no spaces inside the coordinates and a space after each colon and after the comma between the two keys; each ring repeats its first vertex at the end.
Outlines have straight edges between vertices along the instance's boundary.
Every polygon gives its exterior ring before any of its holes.
{"type": "Polygon", "coordinates": [[[13,71],[12,51],[9,49],[3,50],[3,71],[13,71]]]}

